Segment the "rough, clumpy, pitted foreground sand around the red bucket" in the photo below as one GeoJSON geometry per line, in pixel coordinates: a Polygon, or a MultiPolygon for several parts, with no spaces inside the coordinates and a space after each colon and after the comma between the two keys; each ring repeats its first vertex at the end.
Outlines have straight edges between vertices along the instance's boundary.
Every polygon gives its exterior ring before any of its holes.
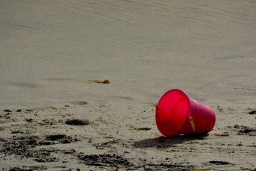
{"type": "Polygon", "coordinates": [[[1,112],[0,165],[34,170],[255,169],[253,110],[213,108],[217,120],[209,134],[175,138],[157,130],[155,103],[1,112]]]}

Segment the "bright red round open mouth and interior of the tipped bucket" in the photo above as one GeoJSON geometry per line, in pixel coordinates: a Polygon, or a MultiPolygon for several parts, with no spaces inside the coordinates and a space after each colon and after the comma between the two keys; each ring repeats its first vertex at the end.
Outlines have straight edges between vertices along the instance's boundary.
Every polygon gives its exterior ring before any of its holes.
{"type": "Polygon", "coordinates": [[[156,124],[166,137],[179,135],[191,112],[189,98],[184,91],[172,89],[165,93],[156,106],[156,124]]]}

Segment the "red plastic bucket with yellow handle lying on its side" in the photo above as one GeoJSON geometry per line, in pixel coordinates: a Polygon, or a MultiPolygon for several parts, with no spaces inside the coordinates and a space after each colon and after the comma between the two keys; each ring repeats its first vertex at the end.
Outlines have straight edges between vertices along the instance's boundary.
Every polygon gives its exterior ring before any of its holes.
{"type": "Polygon", "coordinates": [[[156,125],[166,137],[207,133],[215,124],[214,111],[180,89],[166,92],[156,106],[156,125]]]}

